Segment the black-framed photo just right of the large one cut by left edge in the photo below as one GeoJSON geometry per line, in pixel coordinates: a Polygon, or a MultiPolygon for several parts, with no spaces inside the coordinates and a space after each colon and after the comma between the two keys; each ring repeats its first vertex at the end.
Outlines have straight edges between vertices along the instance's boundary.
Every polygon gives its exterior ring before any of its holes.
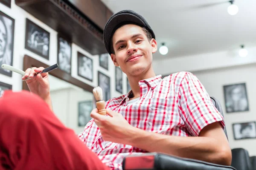
{"type": "Polygon", "coordinates": [[[26,19],[25,48],[49,60],[50,33],[26,19]]]}

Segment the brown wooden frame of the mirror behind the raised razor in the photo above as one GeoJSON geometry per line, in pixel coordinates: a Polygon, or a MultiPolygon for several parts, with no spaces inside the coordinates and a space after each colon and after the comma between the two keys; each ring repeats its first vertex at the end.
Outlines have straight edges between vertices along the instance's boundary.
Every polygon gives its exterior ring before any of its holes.
{"type": "MultiPolygon", "coordinates": [[[[44,64],[43,62],[40,62],[37,59],[29,57],[28,55],[25,55],[24,59],[23,59],[23,70],[25,71],[27,68],[32,68],[32,67],[44,67],[44,68],[47,68],[47,67],[49,67],[49,65],[44,64]]],[[[87,85],[84,82],[81,82],[80,80],[72,77],[70,74],[68,74],[65,71],[62,71],[59,68],[50,71],[49,74],[54,76],[54,77],[57,77],[59,79],[62,79],[64,81],[66,81],[66,82],[69,82],[69,83],[71,83],[73,85],[76,85],[76,86],[78,86],[78,87],[80,87],[80,88],[82,88],[82,89],[84,89],[86,91],[89,91],[89,92],[93,93],[93,87],[92,86],[87,85]]],[[[22,89],[29,91],[29,88],[28,88],[28,86],[27,86],[25,81],[23,81],[23,83],[22,83],[22,89]]]]}

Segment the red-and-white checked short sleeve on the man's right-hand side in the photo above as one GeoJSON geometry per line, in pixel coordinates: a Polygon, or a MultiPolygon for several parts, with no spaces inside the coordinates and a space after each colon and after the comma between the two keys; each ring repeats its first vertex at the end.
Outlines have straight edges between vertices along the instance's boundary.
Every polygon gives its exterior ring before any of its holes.
{"type": "Polygon", "coordinates": [[[192,136],[199,136],[200,131],[213,122],[221,122],[224,128],[223,116],[213,105],[204,86],[192,73],[186,72],[180,83],[178,107],[192,136]]]}

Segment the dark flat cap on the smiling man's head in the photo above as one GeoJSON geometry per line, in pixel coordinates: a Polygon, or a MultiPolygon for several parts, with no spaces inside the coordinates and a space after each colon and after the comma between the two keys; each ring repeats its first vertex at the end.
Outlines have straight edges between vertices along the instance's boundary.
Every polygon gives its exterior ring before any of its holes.
{"type": "Polygon", "coordinates": [[[119,11],[116,14],[113,14],[105,25],[103,40],[105,44],[105,48],[109,54],[111,54],[111,38],[115,31],[125,25],[125,24],[135,24],[141,27],[144,27],[152,34],[152,38],[156,38],[154,31],[149,26],[148,22],[145,20],[143,16],[132,11],[132,10],[123,10],[119,11]]]}

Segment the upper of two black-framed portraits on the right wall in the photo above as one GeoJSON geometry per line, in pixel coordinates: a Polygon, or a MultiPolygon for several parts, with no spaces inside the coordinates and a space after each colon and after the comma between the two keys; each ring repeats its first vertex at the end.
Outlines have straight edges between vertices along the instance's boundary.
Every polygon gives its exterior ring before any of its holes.
{"type": "Polygon", "coordinates": [[[224,85],[224,98],[227,113],[249,111],[245,83],[224,85]]]}

